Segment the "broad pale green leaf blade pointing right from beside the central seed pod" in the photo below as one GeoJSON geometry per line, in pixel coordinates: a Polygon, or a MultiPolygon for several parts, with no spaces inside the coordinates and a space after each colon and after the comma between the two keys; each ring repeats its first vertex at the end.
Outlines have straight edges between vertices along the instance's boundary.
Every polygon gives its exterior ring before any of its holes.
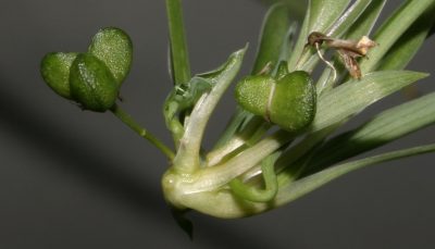
{"type": "Polygon", "coordinates": [[[362,79],[351,79],[320,96],[312,132],[338,123],[426,76],[410,71],[383,71],[368,74],[362,79]]]}

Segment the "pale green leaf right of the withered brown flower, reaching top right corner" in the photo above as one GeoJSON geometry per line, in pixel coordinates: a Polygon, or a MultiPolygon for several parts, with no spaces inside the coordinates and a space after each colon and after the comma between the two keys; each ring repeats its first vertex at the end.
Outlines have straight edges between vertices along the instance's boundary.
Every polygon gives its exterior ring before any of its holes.
{"type": "Polygon", "coordinates": [[[406,1],[376,32],[374,40],[380,46],[369,52],[370,60],[362,61],[363,74],[375,70],[397,39],[433,4],[434,0],[406,1]]]}

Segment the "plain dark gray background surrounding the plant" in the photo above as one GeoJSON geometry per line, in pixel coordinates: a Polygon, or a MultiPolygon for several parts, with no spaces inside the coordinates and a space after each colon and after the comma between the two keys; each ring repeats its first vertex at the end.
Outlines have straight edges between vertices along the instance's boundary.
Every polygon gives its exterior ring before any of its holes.
{"type": "MultiPolygon", "coordinates": [[[[249,41],[247,72],[264,8],[250,0],[184,2],[192,71],[217,66],[249,41]]],[[[164,1],[2,1],[0,248],[434,248],[435,154],[361,170],[249,219],[191,213],[190,241],[160,190],[165,158],[110,113],[83,112],[55,96],[39,76],[46,52],[84,51],[103,26],[122,27],[135,45],[124,108],[170,141],[161,115],[171,87],[164,1]]],[[[434,73],[433,45],[434,38],[409,69],[434,73]]],[[[434,85],[430,78],[419,88],[434,85]]],[[[395,95],[358,120],[401,101],[395,95]]],[[[228,119],[231,94],[224,102],[208,141],[228,119]]],[[[434,134],[426,128],[378,151],[431,142],[434,134]]]]}

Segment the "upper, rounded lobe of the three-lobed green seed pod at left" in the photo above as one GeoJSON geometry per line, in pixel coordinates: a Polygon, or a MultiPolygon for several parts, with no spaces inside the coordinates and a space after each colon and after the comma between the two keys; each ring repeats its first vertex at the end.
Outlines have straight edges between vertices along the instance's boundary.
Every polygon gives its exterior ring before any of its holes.
{"type": "Polygon", "coordinates": [[[117,85],[123,83],[133,59],[132,40],[125,32],[114,27],[100,29],[92,37],[88,51],[105,63],[117,85]]]}

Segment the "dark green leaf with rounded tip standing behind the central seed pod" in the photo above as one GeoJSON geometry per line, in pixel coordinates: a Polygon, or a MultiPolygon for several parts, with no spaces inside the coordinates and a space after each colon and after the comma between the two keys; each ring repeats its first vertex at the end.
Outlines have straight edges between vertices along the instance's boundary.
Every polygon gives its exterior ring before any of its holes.
{"type": "Polygon", "coordinates": [[[271,63],[272,69],[277,66],[283,46],[288,42],[287,35],[291,24],[289,13],[287,5],[282,3],[269,9],[263,21],[252,75],[261,72],[268,63],[271,63]]]}

